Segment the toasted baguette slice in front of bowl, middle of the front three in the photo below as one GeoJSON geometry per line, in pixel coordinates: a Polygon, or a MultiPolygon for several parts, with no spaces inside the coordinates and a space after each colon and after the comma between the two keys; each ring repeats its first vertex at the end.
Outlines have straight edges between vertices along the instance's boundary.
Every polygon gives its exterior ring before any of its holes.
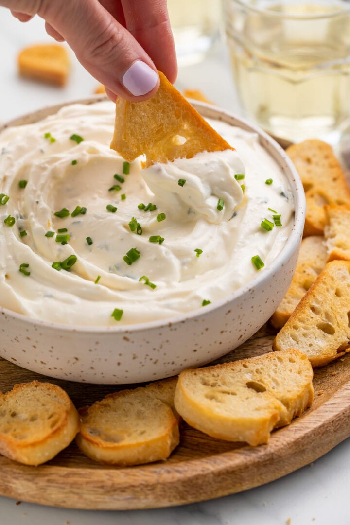
{"type": "Polygon", "coordinates": [[[109,394],[79,409],[76,441],[95,461],[139,465],[166,459],[179,443],[171,404],[176,380],[109,394]]]}

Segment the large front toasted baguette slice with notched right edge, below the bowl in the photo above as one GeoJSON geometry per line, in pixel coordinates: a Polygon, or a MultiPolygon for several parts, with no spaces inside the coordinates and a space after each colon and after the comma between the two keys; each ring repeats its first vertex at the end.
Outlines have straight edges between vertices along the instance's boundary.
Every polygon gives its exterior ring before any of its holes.
{"type": "Polygon", "coordinates": [[[175,407],[185,421],[209,436],[267,443],[272,428],[288,425],[313,400],[312,368],[299,350],[185,370],[175,407]]]}

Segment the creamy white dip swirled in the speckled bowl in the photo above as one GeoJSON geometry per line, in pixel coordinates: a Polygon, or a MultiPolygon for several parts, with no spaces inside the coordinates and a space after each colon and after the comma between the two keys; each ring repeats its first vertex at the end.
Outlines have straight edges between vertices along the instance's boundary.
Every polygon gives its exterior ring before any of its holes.
{"type": "Polygon", "coordinates": [[[9,199],[0,204],[0,306],[63,324],[133,324],[171,318],[229,296],[257,275],[253,256],[264,262],[263,272],[292,228],[290,188],[256,134],[210,124],[236,151],[200,153],[145,170],[137,159],[129,174],[109,148],[114,126],[109,101],[75,104],[3,131],[0,194],[9,199]],[[72,134],[83,141],[73,141],[72,134]],[[25,187],[19,181],[27,181],[25,187]],[[113,185],[121,189],[109,191],[113,185]],[[145,212],[141,203],[156,209],[145,212]],[[109,204],[117,208],[114,213],[109,204]],[[72,217],[77,206],[87,212],[72,217]],[[62,208],[69,216],[54,215],[62,208]],[[282,226],[271,231],[261,227],[265,218],[274,222],[268,208],[281,215],[282,226]],[[158,221],[160,214],[166,218],[158,221]],[[13,226],[4,222],[9,215],[13,226]],[[131,231],[132,217],[142,235],[131,231]],[[56,241],[62,228],[70,236],[63,245],[56,241]],[[54,236],[46,237],[48,231],[54,236]],[[157,235],[164,241],[150,242],[157,235]],[[128,265],[123,258],[132,248],[140,257],[128,265]],[[70,271],[52,268],[71,255],[77,261],[70,271]],[[23,264],[30,275],[19,271],[23,264]],[[140,281],[143,276],[156,287],[140,281]],[[120,321],[112,317],[114,309],[123,310],[120,321]]]}

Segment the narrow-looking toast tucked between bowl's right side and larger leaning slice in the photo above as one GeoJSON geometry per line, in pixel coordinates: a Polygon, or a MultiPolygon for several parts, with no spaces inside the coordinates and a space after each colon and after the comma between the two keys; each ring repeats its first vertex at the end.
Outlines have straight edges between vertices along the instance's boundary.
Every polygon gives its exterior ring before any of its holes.
{"type": "Polygon", "coordinates": [[[326,259],[327,249],[323,237],[312,235],[302,240],[291,285],[270,319],[274,328],[282,328],[288,321],[296,305],[326,266],[326,259]]]}

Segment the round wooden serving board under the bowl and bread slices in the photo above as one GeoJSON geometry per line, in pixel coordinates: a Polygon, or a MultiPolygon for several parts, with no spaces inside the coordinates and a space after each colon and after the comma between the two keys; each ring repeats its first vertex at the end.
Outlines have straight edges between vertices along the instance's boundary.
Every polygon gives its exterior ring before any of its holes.
{"type": "MultiPolygon", "coordinates": [[[[265,325],[218,362],[270,352],[273,337],[265,325]]],[[[48,379],[0,358],[1,391],[33,379],[62,386],[77,407],[118,390],[48,379]]],[[[213,439],[184,424],[172,456],[150,465],[100,465],[74,443],[39,467],[0,456],[0,494],[58,507],[126,510],[180,505],[257,487],[311,463],[350,435],[350,354],[316,369],[314,387],[313,406],[273,432],[267,445],[213,439]]]]}

